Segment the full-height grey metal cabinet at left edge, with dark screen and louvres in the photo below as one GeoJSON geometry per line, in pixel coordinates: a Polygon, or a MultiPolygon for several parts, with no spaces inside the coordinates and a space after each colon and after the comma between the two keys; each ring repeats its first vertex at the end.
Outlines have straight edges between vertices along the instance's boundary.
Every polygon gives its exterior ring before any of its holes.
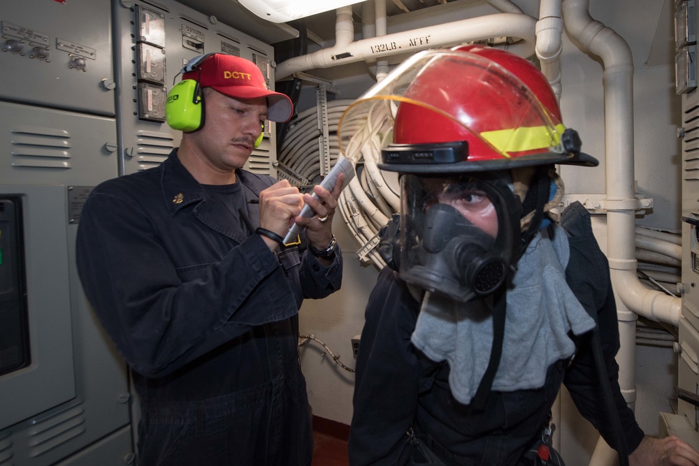
{"type": "Polygon", "coordinates": [[[111,6],[0,6],[0,340],[11,347],[0,360],[15,361],[0,370],[0,465],[117,466],[133,451],[126,365],[74,259],[82,202],[118,175],[111,6]]]}

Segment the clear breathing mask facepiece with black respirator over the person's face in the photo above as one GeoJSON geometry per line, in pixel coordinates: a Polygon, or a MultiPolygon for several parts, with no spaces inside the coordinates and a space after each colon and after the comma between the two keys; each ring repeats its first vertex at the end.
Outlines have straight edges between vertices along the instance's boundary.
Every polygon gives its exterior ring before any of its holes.
{"type": "Polygon", "coordinates": [[[409,174],[401,201],[401,279],[460,302],[503,284],[519,240],[519,205],[507,184],[409,174]]]}

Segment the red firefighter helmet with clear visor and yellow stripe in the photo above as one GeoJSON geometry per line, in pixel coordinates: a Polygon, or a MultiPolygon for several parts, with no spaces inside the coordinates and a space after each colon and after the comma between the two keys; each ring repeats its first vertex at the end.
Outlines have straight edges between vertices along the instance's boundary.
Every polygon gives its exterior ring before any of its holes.
{"type": "MultiPolygon", "coordinates": [[[[518,66],[534,68],[540,75],[532,64],[515,58],[518,66]]],[[[381,168],[400,172],[413,171],[403,170],[406,165],[428,163],[468,162],[468,167],[452,173],[517,164],[579,163],[575,154],[563,148],[565,127],[552,89],[541,78],[537,90],[546,94],[542,98],[548,108],[496,61],[459,50],[420,52],[345,111],[338,126],[340,150],[354,153],[368,141],[379,140],[384,157],[381,168]],[[433,151],[440,145],[457,142],[465,143],[459,154],[433,160],[433,151]]]]}

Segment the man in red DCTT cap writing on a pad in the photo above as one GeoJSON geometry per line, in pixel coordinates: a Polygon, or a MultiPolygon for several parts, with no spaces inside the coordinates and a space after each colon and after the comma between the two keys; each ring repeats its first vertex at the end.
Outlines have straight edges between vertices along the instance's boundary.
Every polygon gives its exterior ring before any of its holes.
{"type": "Polygon", "coordinates": [[[166,109],[180,147],[96,187],[78,228],[83,288],[140,396],[138,464],[310,465],[298,309],[340,288],[342,177],[314,198],[243,170],[291,101],[240,57],[183,73],[166,109]],[[304,203],[315,217],[298,216],[304,203]]]}

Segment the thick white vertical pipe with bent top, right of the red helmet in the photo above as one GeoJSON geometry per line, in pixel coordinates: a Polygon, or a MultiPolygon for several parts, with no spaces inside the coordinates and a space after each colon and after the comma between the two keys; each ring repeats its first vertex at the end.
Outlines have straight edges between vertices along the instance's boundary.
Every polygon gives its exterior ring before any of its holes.
{"type": "MultiPolygon", "coordinates": [[[[633,59],[623,38],[589,15],[589,0],[564,0],[563,18],[569,34],[598,55],[604,66],[605,163],[607,207],[607,257],[617,297],[617,319],[621,349],[619,386],[631,409],[635,406],[635,320],[622,293],[624,279],[635,277],[635,189],[633,159],[633,59]],[[621,298],[621,299],[620,299],[621,298]]],[[[637,282],[637,279],[635,280],[637,282]]],[[[639,286],[642,284],[639,283],[639,286]]],[[[601,444],[594,463],[611,463],[608,449],[601,444]]]]}

